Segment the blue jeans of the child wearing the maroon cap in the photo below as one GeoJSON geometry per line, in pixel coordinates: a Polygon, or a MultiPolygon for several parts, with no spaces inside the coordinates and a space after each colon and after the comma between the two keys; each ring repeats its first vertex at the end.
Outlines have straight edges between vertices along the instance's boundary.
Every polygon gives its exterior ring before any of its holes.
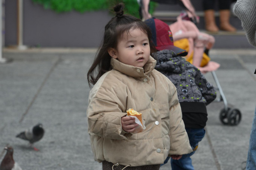
{"type": "MultiPolygon", "coordinates": [[[[173,160],[171,158],[172,170],[194,170],[190,156],[192,156],[197,150],[198,143],[203,139],[205,130],[204,128],[186,128],[186,131],[193,152],[190,154],[182,155],[179,160],[173,160]]],[[[167,157],[163,164],[166,164],[169,159],[170,157],[167,157]]]]}

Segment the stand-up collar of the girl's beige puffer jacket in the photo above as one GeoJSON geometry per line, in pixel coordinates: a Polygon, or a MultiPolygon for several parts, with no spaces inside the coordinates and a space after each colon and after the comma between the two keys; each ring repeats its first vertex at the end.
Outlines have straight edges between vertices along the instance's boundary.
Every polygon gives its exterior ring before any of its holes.
{"type": "Polygon", "coordinates": [[[120,62],[119,60],[116,60],[111,57],[111,62],[110,62],[112,68],[114,70],[117,70],[125,75],[131,76],[133,78],[137,79],[144,79],[148,78],[149,75],[154,70],[156,61],[154,60],[153,57],[149,57],[148,62],[145,64],[144,67],[134,67],[128,64],[124,64],[120,62]]]}

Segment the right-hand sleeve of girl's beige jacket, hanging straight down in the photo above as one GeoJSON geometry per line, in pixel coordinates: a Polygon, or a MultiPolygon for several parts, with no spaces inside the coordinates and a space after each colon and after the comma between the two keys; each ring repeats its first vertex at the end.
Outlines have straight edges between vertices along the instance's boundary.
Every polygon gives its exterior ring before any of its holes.
{"type": "Polygon", "coordinates": [[[185,125],[182,120],[182,113],[180,103],[178,101],[177,89],[171,84],[171,91],[169,92],[169,137],[170,137],[170,155],[184,155],[192,152],[189,144],[189,138],[185,130],[185,125]]]}

